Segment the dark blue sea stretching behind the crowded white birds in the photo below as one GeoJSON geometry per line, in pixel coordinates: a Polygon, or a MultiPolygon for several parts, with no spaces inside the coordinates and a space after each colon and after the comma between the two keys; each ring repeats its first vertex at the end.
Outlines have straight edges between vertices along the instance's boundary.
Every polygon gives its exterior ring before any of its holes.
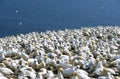
{"type": "Polygon", "coordinates": [[[0,0],[0,37],[120,25],[120,0],[0,0]]]}

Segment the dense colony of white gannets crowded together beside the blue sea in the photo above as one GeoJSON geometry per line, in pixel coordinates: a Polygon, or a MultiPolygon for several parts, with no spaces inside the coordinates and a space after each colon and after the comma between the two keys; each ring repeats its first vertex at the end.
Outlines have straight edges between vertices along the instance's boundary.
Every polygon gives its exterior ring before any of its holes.
{"type": "Polygon", "coordinates": [[[120,79],[120,27],[0,38],[0,79],[120,79]]]}

